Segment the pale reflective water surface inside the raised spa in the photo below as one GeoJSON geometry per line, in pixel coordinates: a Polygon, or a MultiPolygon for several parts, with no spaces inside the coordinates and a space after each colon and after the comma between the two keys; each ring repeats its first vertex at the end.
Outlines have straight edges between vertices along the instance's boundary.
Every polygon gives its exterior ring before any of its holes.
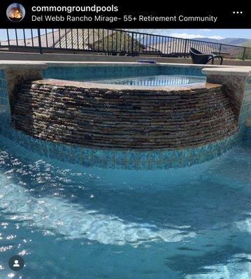
{"type": "Polygon", "coordinates": [[[194,75],[150,75],[144,77],[113,78],[109,80],[96,80],[97,83],[123,84],[138,86],[175,86],[205,83],[206,77],[194,75]]]}

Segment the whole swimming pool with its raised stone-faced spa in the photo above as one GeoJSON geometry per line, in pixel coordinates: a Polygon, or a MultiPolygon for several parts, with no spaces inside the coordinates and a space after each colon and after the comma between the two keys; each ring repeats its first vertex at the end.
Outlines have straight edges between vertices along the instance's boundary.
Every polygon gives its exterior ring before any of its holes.
{"type": "Polygon", "coordinates": [[[203,78],[198,68],[38,74],[20,86],[15,128],[0,71],[1,279],[250,278],[251,79],[242,80],[237,121],[214,75],[212,84],[168,89],[94,82],[203,78]],[[18,273],[8,267],[13,255],[26,263],[18,273]]]}

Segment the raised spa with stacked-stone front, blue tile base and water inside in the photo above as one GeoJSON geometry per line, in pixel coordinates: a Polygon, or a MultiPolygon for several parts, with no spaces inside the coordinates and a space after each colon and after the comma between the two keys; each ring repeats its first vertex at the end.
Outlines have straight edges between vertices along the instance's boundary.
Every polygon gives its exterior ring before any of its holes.
{"type": "Polygon", "coordinates": [[[237,93],[199,67],[50,66],[10,94],[11,126],[34,151],[85,166],[193,165],[240,135],[246,77],[236,78],[237,93]]]}

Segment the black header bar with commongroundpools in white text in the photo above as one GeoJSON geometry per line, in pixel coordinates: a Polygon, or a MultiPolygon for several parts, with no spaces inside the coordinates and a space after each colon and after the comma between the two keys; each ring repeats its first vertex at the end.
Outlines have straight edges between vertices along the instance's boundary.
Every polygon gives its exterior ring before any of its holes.
{"type": "Polygon", "coordinates": [[[10,22],[6,9],[13,2],[1,0],[0,28],[251,28],[251,11],[241,1],[220,6],[219,1],[19,0],[26,15],[20,22],[10,22]]]}

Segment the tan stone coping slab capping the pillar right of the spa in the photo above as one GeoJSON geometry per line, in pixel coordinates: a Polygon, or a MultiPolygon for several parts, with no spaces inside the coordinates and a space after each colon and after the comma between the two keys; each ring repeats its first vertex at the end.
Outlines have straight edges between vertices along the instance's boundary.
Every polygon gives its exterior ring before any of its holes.
{"type": "Polygon", "coordinates": [[[234,75],[250,77],[251,67],[203,68],[201,72],[205,75],[234,75]]]}

